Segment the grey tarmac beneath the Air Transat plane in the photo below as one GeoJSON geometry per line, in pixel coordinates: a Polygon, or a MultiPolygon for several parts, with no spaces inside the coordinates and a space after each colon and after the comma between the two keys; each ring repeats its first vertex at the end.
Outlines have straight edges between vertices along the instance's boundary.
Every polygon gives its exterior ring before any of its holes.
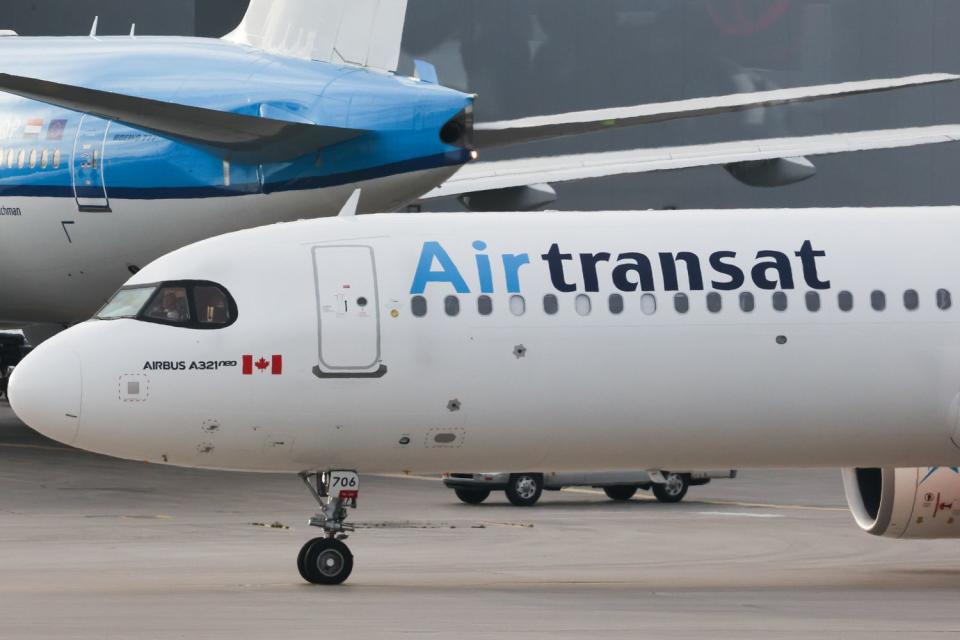
{"type": "Polygon", "coordinates": [[[3,640],[960,633],[960,543],[859,532],[836,470],[744,471],[679,505],[587,490],[532,509],[367,476],[356,568],[334,588],[297,575],[313,503],[293,476],[65,449],[0,404],[0,491],[3,640]]]}

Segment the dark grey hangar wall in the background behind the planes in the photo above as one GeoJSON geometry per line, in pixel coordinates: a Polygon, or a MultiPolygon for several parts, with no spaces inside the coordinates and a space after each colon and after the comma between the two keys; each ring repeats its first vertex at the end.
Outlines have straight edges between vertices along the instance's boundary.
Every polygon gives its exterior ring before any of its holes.
{"type": "MultiPolygon", "coordinates": [[[[244,0],[4,0],[23,35],[219,36],[244,0]]],[[[955,0],[410,0],[405,61],[480,94],[482,119],[928,71],[960,71],[955,0]]],[[[538,143],[507,155],[694,144],[958,120],[960,87],[770,109],[538,143]]],[[[720,169],[560,187],[563,208],[952,204],[960,145],[822,158],[776,190],[720,169]]]]}

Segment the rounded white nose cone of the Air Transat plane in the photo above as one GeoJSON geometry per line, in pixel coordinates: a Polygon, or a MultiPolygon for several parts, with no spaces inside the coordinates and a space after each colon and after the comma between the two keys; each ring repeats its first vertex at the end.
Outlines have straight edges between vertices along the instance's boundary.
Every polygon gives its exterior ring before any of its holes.
{"type": "Polygon", "coordinates": [[[29,427],[73,444],[80,431],[80,358],[57,342],[40,345],[17,365],[7,395],[14,413],[29,427]]]}

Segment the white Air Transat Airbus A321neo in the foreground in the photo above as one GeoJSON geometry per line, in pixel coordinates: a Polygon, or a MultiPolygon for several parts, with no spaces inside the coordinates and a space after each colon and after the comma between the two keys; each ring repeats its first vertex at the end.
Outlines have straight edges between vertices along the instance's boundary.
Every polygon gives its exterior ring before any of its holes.
{"type": "Polygon", "coordinates": [[[338,583],[365,472],[835,466],[866,531],[960,537],[960,210],[419,214],[214,238],[36,349],[63,443],[298,472],[338,583]]]}

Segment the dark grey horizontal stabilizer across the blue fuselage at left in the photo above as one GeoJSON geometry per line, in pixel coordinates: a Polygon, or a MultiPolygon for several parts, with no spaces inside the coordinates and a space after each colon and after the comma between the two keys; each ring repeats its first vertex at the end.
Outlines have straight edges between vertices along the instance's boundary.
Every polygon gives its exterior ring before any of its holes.
{"type": "Polygon", "coordinates": [[[237,161],[290,160],[363,133],[0,74],[0,91],[210,148],[237,161]]]}

